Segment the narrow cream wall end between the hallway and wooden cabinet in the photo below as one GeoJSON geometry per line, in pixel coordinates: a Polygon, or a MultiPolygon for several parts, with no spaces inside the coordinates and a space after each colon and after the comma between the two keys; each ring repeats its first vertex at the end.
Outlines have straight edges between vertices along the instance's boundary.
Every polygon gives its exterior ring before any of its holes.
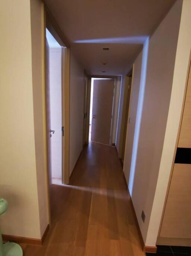
{"type": "MultiPolygon", "coordinates": [[[[181,3],[178,1],[176,5],[181,3]]],[[[191,51],[191,1],[184,0],[182,5],[181,24],[178,36],[175,68],[173,73],[172,93],[170,97],[169,113],[165,131],[159,176],[151,211],[150,223],[147,232],[147,245],[156,243],[163,205],[165,202],[167,184],[169,181],[175,150],[179,121],[181,117],[187,70],[191,51]]]]}

